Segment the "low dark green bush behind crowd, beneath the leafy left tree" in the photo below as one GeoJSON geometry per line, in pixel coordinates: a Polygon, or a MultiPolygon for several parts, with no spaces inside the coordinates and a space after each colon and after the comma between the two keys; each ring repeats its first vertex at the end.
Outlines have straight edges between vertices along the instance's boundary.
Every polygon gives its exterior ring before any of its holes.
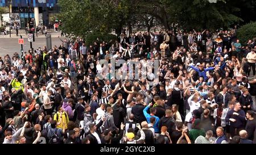
{"type": "Polygon", "coordinates": [[[93,45],[94,41],[105,41],[107,43],[117,40],[117,36],[109,33],[93,32],[85,37],[87,45],[93,45]]]}

